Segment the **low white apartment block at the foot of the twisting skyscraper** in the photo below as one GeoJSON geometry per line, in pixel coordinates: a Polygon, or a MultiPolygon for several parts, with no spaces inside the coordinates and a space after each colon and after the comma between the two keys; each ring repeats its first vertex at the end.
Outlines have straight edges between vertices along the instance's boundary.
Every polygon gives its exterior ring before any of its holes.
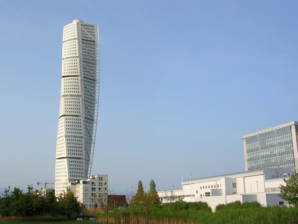
{"type": "Polygon", "coordinates": [[[70,184],[77,200],[82,202],[86,208],[94,208],[94,203],[106,202],[108,197],[108,175],[95,175],[90,179],[79,180],[70,184]]]}

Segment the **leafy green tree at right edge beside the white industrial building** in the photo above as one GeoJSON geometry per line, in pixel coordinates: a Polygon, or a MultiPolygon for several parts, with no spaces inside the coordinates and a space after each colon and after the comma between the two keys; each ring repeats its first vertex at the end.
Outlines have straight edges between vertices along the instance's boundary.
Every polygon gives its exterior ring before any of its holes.
{"type": "Polygon", "coordinates": [[[280,192],[282,194],[279,196],[291,205],[298,205],[298,174],[294,174],[289,179],[283,180],[286,185],[280,185],[280,192]]]}

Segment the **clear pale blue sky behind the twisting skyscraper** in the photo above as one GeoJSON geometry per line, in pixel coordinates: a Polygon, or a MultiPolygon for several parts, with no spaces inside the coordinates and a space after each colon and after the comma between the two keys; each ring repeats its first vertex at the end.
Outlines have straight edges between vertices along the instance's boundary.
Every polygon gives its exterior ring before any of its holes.
{"type": "Polygon", "coordinates": [[[165,190],[245,171],[243,135],[298,120],[297,12],[297,1],[0,0],[0,192],[55,182],[66,24],[100,26],[91,173],[126,194],[139,180],[165,190]]]}

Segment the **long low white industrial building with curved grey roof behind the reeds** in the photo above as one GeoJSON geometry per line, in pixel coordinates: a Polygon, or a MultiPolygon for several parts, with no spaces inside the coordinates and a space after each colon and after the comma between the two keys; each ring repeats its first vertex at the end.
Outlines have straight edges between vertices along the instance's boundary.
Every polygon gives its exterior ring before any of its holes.
{"type": "Polygon", "coordinates": [[[182,198],[186,202],[207,202],[212,210],[216,205],[258,201],[262,206],[285,206],[278,195],[283,179],[292,175],[288,168],[265,168],[214,177],[182,181],[182,189],[158,191],[162,203],[182,198]]]}

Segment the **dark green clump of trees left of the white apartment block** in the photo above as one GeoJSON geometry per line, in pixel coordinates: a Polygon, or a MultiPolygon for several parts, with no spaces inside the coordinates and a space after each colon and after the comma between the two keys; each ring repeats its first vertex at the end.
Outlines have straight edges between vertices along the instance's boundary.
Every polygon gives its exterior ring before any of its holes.
{"type": "Polygon", "coordinates": [[[45,194],[43,191],[33,190],[28,185],[27,192],[20,188],[10,187],[5,189],[2,201],[0,202],[1,217],[76,217],[82,212],[83,206],[77,202],[74,194],[60,195],[55,197],[55,191],[45,194]]]}

